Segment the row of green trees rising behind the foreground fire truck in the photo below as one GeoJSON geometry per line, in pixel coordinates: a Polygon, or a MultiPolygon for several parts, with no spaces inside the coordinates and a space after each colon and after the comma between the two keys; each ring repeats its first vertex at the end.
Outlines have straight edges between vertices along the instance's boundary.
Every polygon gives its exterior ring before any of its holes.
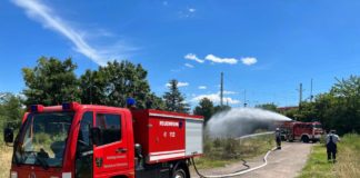
{"type": "Polygon", "coordinates": [[[0,122],[20,120],[26,107],[53,106],[69,101],[81,103],[127,107],[133,98],[137,108],[189,112],[190,106],[178,88],[178,81],[169,81],[169,91],[158,97],[151,91],[148,71],[130,61],[109,61],[97,70],[86,70],[80,77],[71,58],[41,57],[36,67],[22,68],[26,88],[21,95],[0,92],[0,122]]]}

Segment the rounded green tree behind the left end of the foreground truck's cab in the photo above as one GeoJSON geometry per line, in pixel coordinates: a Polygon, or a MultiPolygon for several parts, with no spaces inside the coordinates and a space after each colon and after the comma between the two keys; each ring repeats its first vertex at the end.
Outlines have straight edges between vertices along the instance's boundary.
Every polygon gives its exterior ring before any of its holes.
{"type": "Polygon", "coordinates": [[[79,100],[76,69],[71,58],[60,61],[52,57],[41,57],[34,68],[22,68],[24,103],[50,106],[79,100]]]}

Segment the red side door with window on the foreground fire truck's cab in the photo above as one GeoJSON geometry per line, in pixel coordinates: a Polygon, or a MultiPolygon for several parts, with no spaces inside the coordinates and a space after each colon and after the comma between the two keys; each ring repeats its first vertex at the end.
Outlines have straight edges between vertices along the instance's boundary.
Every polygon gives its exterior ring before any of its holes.
{"type": "Polygon", "coordinates": [[[124,118],[121,113],[96,113],[101,139],[93,151],[93,172],[99,176],[121,174],[129,168],[129,150],[124,118]]]}

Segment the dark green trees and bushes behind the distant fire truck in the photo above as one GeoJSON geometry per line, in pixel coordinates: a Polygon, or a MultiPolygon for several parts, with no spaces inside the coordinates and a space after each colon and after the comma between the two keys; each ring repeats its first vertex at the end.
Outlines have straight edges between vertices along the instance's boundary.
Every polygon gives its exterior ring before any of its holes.
{"type": "MultiPolygon", "coordinates": [[[[257,107],[280,112],[274,103],[257,107]]],[[[328,92],[314,96],[313,101],[302,101],[283,115],[299,121],[320,121],[326,130],[334,129],[340,135],[360,132],[360,76],[337,79],[328,92]]]]}

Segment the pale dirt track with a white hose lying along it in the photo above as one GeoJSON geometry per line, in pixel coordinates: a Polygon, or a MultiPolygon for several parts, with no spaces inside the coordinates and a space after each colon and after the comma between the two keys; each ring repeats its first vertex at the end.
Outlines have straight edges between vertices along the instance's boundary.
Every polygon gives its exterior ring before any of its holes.
{"type": "MultiPolygon", "coordinates": [[[[268,157],[268,165],[254,171],[236,176],[234,178],[293,178],[297,177],[304,166],[311,151],[312,144],[282,142],[282,149],[271,152],[268,157]]],[[[262,165],[262,157],[248,160],[250,167],[262,165]]],[[[231,164],[223,168],[200,170],[202,175],[223,175],[243,169],[242,162],[231,164]]],[[[191,170],[192,178],[199,176],[191,170]]]]}

